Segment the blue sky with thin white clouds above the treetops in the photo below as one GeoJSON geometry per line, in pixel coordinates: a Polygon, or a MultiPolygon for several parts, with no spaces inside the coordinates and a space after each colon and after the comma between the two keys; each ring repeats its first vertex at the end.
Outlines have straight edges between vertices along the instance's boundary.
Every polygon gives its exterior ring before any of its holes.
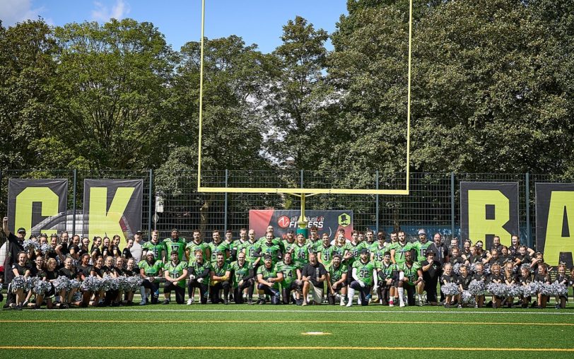
{"type": "MultiPolygon", "coordinates": [[[[255,43],[262,52],[271,52],[281,45],[282,26],[295,16],[332,33],[341,14],[346,13],[346,0],[206,0],[205,35],[239,35],[246,44],[255,43]]],[[[85,20],[101,23],[111,17],[149,21],[179,50],[185,42],[199,40],[201,1],[0,0],[4,26],[37,16],[52,25],[85,20]]]]}

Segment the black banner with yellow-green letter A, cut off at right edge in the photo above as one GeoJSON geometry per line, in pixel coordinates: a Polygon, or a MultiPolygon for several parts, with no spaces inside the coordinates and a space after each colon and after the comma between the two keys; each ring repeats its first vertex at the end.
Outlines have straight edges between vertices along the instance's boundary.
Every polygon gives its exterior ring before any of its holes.
{"type": "Polygon", "coordinates": [[[536,184],[536,247],[546,263],[573,267],[574,184],[536,184]]]}

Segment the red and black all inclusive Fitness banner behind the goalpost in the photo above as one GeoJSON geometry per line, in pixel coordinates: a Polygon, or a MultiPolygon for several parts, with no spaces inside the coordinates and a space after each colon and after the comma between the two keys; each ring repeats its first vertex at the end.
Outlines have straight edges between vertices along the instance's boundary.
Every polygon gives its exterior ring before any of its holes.
{"type": "MultiPolygon", "coordinates": [[[[285,238],[288,230],[297,231],[300,211],[282,209],[252,209],[249,211],[249,228],[255,230],[255,237],[263,237],[269,225],[273,226],[276,237],[285,238]]],[[[309,223],[319,228],[319,237],[327,233],[329,238],[339,230],[345,230],[345,237],[351,237],[353,211],[305,211],[309,223]]]]}

